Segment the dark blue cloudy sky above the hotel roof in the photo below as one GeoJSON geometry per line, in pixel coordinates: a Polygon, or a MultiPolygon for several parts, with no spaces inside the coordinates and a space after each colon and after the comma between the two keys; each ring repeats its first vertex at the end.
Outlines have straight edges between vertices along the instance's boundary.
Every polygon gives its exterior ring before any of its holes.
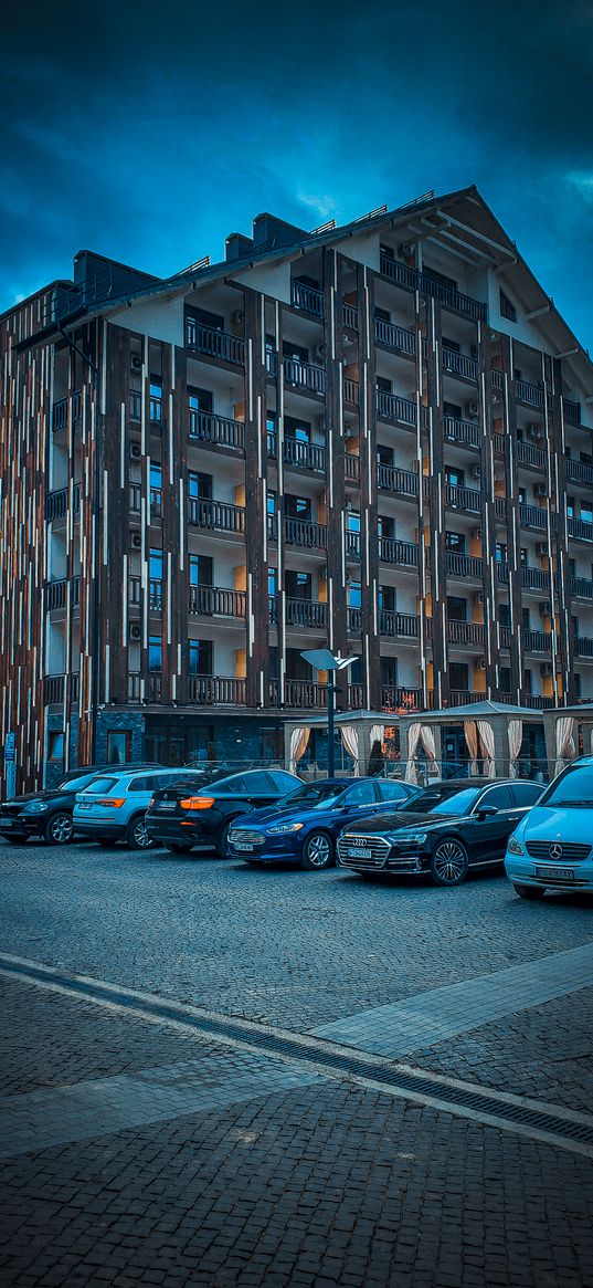
{"type": "Polygon", "coordinates": [[[89,247],[166,276],[475,183],[593,350],[593,9],[24,0],[5,19],[0,310],[89,247]],[[8,23],[8,24],[6,24],[8,23]]]}

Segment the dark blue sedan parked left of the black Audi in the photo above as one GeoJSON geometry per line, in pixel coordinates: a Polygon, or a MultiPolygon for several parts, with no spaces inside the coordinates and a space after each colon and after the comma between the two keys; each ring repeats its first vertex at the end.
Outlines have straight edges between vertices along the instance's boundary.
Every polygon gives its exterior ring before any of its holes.
{"type": "Polygon", "coordinates": [[[278,805],[235,819],[226,854],[246,863],[300,863],[320,872],[336,862],[336,840],[358,818],[397,809],[417,787],[390,778],[323,778],[278,805]]]}

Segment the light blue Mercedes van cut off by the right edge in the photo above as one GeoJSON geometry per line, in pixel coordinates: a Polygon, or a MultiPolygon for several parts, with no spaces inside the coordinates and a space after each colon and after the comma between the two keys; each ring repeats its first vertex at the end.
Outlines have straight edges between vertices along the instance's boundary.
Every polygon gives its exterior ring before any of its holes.
{"type": "Polygon", "coordinates": [[[593,891],[593,756],[545,787],[509,836],[504,868],[521,899],[547,890],[593,891]]]}

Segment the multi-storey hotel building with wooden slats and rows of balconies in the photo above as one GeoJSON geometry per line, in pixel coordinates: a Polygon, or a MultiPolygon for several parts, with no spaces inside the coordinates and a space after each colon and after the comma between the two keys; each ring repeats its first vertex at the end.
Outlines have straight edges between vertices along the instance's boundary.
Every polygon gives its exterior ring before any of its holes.
{"type": "Polygon", "coordinates": [[[323,708],[593,697],[588,353],[475,188],[0,319],[1,737],[279,753],[323,708]]]}

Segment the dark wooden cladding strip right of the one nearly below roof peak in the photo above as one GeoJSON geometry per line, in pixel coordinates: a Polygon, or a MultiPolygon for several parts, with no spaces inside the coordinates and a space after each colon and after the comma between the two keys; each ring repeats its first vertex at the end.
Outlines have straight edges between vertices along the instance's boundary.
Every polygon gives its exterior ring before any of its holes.
{"type": "Polygon", "coordinates": [[[521,520],[518,505],[518,462],[517,462],[517,401],[513,377],[512,340],[502,335],[502,366],[504,390],[502,392],[502,417],[504,438],[504,480],[507,495],[506,546],[508,565],[508,603],[511,608],[511,692],[518,702],[522,689],[522,582],[521,582],[521,520]],[[515,502],[513,502],[515,498],[515,502]]]}

